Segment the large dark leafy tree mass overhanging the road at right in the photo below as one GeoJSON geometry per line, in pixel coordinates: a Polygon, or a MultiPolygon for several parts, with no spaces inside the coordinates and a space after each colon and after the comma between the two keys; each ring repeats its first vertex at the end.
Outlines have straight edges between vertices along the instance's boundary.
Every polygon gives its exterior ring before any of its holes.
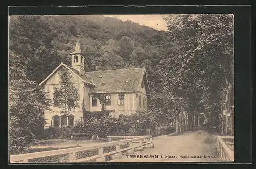
{"type": "Polygon", "coordinates": [[[172,15],[166,21],[167,40],[179,51],[164,66],[166,91],[182,96],[183,105],[188,104],[196,116],[212,107],[209,114],[219,118],[214,114],[221,112],[216,105],[228,91],[228,100],[233,101],[233,16],[172,15]]]}

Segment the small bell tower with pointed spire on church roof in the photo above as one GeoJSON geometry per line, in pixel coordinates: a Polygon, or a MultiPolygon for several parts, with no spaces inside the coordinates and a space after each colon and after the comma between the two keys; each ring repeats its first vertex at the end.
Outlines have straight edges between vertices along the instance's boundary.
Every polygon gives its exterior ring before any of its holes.
{"type": "Polygon", "coordinates": [[[84,74],[84,64],[86,60],[81,52],[80,42],[78,40],[76,41],[75,51],[69,55],[71,55],[71,67],[79,71],[81,74],[84,74]]]}

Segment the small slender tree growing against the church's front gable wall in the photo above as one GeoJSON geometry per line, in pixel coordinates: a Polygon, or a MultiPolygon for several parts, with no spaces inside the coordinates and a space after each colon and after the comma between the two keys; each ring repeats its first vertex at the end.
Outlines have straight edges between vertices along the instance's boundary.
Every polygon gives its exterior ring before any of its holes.
{"type": "MultiPolygon", "coordinates": [[[[69,70],[62,68],[60,70],[60,88],[55,87],[53,92],[53,102],[55,105],[58,105],[59,108],[62,108],[65,119],[66,116],[70,113],[71,109],[79,107],[79,98],[78,89],[73,85],[69,70]]],[[[64,125],[66,125],[66,120],[64,120],[64,125]]]]}

